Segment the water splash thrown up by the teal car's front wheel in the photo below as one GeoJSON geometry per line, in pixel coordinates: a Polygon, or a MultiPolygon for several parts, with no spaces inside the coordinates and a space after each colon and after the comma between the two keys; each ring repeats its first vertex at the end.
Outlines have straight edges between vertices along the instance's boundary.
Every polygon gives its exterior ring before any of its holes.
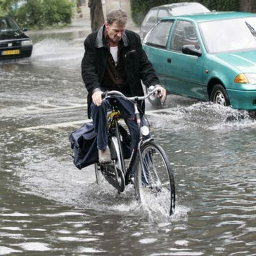
{"type": "Polygon", "coordinates": [[[197,102],[190,106],[163,108],[157,116],[151,116],[151,123],[156,128],[172,126],[172,131],[190,130],[191,128],[208,130],[229,130],[255,127],[256,121],[248,111],[223,107],[212,102],[197,102]],[[156,121],[154,121],[156,120],[156,121]]]}

